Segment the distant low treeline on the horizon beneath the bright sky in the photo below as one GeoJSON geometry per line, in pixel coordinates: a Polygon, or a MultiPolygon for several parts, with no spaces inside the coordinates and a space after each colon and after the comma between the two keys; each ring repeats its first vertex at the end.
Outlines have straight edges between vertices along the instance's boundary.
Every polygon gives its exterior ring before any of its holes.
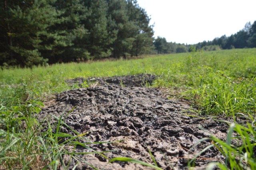
{"type": "Polygon", "coordinates": [[[233,48],[253,48],[256,47],[256,21],[253,24],[246,23],[244,29],[234,35],[214,38],[212,41],[204,41],[194,45],[177,44],[166,42],[165,38],[158,37],[154,41],[158,53],[180,53],[193,50],[214,51],[220,49],[233,48]]]}

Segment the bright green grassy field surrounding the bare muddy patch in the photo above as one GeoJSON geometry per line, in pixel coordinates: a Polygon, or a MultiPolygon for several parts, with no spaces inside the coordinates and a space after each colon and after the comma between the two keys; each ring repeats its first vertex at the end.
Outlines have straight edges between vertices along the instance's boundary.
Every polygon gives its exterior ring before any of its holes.
{"type": "MultiPolygon", "coordinates": [[[[40,111],[42,101],[55,93],[77,87],[69,87],[66,79],[140,73],[157,75],[153,87],[168,88],[170,97],[192,101],[199,116],[241,116],[247,119],[247,125],[230,125],[225,142],[214,137],[211,140],[228,160],[226,165],[218,164],[220,168],[256,168],[253,149],[256,147],[254,48],[4,69],[0,71],[0,169],[56,168],[61,164],[66,143],[58,143],[57,132],[41,133],[40,123],[33,115],[40,111]],[[230,145],[234,131],[243,140],[239,147],[230,145]],[[47,150],[49,147],[53,148],[51,152],[47,150]],[[236,161],[237,157],[240,161],[236,161]]],[[[84,87],[87,86],[85,82],[84,87]]]]}

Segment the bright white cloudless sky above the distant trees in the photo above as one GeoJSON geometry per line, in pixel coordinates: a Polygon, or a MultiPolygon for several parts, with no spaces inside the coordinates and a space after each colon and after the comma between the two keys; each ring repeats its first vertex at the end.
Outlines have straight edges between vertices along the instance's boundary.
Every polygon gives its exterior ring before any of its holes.
{"type": "Polygon", "coordinates": [[[154,37],[195,44],[230,36],[256,21],[256,0],[137,0],[154,24],[154,37]]]}

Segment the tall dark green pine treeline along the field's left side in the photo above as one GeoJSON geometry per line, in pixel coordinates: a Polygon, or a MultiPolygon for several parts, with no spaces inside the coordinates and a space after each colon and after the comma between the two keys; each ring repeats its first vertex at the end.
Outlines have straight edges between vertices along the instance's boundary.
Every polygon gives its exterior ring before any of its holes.
{"type": "Polygon", "coordinates": [[[137,56],[154,50],[136,0],[1,0],[0,65],[137,56]]]}

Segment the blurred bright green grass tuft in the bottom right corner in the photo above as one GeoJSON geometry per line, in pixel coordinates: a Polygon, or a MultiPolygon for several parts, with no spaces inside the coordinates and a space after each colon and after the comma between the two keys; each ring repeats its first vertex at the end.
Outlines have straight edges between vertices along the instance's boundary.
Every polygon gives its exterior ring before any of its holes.
{"type": "Polygon", "coordinates": [[[240,125],[237,123],[230,124],[225,141],[215,136],[211,136],[210,138],[202,138],[200,141],[198,141],[198,143],[204,140],[211,140],[212,144],[204,148],[188,163],[192,164],[192,162],[202,152],[211,147],[216,147],[225,158],[224,164],[220,162],[211,162],[208,165],[208,170],[212,170],[216,166],[222,170],[255,169],[256,129],[254,126],[255,124],[251,125],[250,123],[247,123],[247,125],[240,125]],[[236,145],[234,145],[234,140],[236,140],[236,145]]]}

